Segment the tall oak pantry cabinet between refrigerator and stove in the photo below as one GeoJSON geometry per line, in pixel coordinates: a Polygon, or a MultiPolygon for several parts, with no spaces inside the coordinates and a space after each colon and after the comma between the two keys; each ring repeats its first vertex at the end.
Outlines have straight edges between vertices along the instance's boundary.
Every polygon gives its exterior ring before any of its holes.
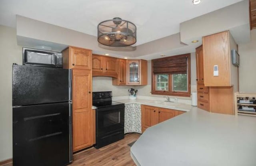
{"type": "Polygon", "coordinates": [[[68,47],[63,68],[72,69],[73,152],[92,146],[92,50],[68,47]]]}

